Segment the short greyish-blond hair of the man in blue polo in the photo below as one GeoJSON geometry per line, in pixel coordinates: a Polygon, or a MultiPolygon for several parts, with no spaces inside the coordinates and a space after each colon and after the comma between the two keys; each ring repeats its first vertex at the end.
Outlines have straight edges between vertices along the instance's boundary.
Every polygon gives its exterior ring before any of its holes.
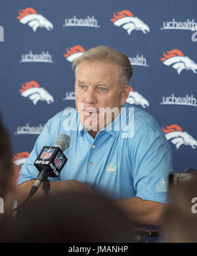
{"type": "Polygon", "coordinates": [[[77,67],[81,63],[94,61],[104,61],[118,65],[120,67],[118,79],[120,81],[121,90],[126,84],[129,84],[129,80],[133,75],[133,69],[128,57],[124,53],[106,46],[98,46],[85,51],[83,55],[75,59],[72,67],[76,67],[77,71],[77,67]]]}

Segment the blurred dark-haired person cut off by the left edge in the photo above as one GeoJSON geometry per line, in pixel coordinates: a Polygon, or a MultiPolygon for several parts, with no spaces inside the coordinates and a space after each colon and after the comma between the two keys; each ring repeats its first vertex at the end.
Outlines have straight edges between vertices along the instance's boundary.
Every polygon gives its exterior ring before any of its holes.
{"type": "Polygon", "coordinates": [[[19,169],[12,164],[12,151],[7,131],[0,123],[0,213],[10,212],[16,200],[19,169]]]}

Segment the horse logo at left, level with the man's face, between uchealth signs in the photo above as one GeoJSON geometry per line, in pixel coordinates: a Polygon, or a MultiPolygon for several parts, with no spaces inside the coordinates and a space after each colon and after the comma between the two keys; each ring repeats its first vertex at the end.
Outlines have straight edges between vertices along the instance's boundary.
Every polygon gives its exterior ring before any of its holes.
{"type": "Polygon", "coordinates": [[[39,84],[35,81],[26,82],[22,84],[22,89],[19,90],[23,97],[28,97],[32,100],[35,106],[39,100],[46,101],[48,104],[54,102],[53,96],[44,88],[40,88],[39,84]]]}

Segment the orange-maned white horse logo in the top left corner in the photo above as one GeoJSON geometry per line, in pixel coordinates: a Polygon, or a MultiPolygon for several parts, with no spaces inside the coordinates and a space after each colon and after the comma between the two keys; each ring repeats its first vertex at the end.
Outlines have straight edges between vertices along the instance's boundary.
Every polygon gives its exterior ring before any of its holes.
{"type": "Polygon", "coordinates": [[[53,24],[42,15],[37,14],[33,8],[26,8],[18,11],[20,16],[16,17],[22,24],[28,24],[34,32],[38,27],[46,28],[48,31],[53,29],[53,24]]]}

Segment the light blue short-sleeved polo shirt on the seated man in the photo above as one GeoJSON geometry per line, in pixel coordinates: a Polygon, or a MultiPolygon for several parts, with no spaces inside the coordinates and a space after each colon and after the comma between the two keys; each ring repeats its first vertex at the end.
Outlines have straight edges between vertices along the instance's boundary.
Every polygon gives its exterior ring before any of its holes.
{"type": "Polygon", "coordinates": [[[93,139],[81,125],[77,111],[70,113],[65,110],[47,122],[20,171],[19,184],[37,177],[33,162],[43,146],[53,146],[56,137],[66,133],[70,137],[70,146],[64,151],[68,162],[58,179],[51,181],[76,179],[111,199],[140,197],[165,203],[173,156],[150,114],[125,103],[115,121],[93,139]]]}

